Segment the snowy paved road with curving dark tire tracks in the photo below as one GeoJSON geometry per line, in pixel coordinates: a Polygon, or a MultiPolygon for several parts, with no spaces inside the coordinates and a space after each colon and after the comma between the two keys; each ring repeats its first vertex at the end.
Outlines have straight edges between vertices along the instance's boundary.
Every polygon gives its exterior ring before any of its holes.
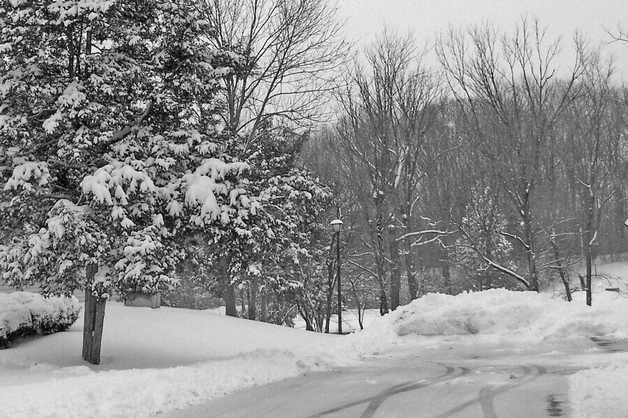
{"type": "Polygon", "coordinates": [[[164,417],[569,416],[569,374],[590,364],[591,353],[625,348],[626,343],[587,340],[525,350],[452,343],[255,387],[164,417]]]}

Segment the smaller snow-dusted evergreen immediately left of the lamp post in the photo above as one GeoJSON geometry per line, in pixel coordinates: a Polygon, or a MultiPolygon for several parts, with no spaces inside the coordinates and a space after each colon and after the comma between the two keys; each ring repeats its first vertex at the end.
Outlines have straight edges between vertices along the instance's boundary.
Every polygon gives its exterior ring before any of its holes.
{"type": "Polygon", "coordinates": [[[294,306],[306,314],[324,295],[331,192],[311,171],[298,167],[303,140],[288,131],[271,135],[254,144],[247,160],[263,207],[255,240],[257,284],[275,293],[276,311],[283,312],[276,322],[294,306]]]}

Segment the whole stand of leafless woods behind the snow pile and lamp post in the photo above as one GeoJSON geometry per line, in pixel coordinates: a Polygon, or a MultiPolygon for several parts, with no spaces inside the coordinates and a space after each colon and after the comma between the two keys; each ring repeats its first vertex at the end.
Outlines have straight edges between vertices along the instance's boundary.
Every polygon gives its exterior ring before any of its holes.
{"type": "Polygon", "coordinates": [[[433,291],[553,284],[591,304],[595,257],[628,245],[628,95],[612,61],[526,19],[450,28],[433,52],[430,67],[385,30],[338,88],[338,121],[306,144],[352,226],[345,276],[382,312],[433,291]]]}

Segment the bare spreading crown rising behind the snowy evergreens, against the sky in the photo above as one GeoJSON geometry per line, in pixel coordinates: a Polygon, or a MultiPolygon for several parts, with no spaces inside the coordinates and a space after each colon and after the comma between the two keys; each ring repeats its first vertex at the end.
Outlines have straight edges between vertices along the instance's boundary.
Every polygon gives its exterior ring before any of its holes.
{"type": "MultiPolygon", "coordinates": [[[[246,136],[270,120],[320,122],[338,70],[350,58],[336,6],[328,0],[202,0],[207,43],[241,56],[225,77],[224,123],[246,136]]],[[[327,109],[329,111],[329,109],[327,109]]]]}

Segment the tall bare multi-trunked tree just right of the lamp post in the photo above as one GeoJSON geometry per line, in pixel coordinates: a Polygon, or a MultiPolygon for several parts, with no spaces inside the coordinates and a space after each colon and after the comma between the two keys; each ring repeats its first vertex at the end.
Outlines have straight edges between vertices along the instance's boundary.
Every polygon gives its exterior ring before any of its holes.
{"type": "MultiPolygon", "coordinates": [[[[382,314],[400,304],[403,253],[406,267],[412,269],[412,243],[440,233],[417,230],[419,224],[412,222],[426,165],[434,159],[424,141],[444,100],[440,78],[421,63],[422,55],[411,35],[384,31],[366,49],[366,66],[356,65],[338,96],[343,111],[338,146],[343,164],[351,169],[352,192],[361,203],[368,231],[364,246],[373,256],[382,314]]],[[[414,298],[415,275],[408,277],[414,298]]]]}

